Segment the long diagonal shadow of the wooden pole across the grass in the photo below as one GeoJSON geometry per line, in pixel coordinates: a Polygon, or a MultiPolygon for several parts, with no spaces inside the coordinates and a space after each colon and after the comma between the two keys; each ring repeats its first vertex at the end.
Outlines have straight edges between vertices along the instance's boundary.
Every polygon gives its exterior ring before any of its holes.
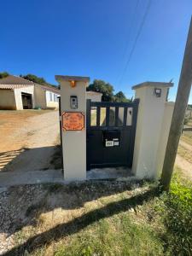
{"type": "Polygon", "coordinates": [[[128,211],[132,207],[141,206],[144,202],[151,200],[158,194],[158,189],[150,189],[143,194],[135,195],[131,198],[127,198],[121,201],[109,203],[105,207],[92,210],[79,218],[73,218],[72,221],[69,221],[65,224],[58,224],[54,228],[47,230],[42,234],[33,236],[23,244],[14,247],[3,255],[23,255],[25,251],[32,253],[34,250],[43,247],[45,244],[49,245],[49,242],[51,241],[58,241],[60,238],[73,235],[102,218],[108,218],[113,216],[113,214],[128,211]]]}

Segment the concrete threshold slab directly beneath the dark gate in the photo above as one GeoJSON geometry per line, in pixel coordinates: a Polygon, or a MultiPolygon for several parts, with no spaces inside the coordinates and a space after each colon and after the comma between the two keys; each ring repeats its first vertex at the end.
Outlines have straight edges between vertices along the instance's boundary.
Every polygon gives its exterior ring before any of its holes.
{"type": "Polygon", "coordinates": [[[131,177],[131,169],[125,167],[96,168],[87,172],[87,180],[91,179],[117,179],[131,177]]]}

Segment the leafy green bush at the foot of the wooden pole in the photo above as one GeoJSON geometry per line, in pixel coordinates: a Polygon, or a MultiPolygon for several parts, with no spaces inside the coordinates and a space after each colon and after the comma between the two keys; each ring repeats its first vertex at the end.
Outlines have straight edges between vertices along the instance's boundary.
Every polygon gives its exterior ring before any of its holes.
{"type": "Polygon", "coordinates": [[[163,203],[167,247],[172,255],[192,255],[192,184],[175,177],[163,203]]]}

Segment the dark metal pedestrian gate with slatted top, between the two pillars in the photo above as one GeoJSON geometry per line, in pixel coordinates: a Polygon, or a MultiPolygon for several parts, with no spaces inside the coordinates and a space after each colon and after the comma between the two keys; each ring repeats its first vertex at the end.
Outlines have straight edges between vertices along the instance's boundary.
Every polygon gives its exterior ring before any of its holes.
{"type": "Polygon", "coordinates": [[[132,166],[137,109],[134,102],[87,100],[87,170],[132,166]]]}

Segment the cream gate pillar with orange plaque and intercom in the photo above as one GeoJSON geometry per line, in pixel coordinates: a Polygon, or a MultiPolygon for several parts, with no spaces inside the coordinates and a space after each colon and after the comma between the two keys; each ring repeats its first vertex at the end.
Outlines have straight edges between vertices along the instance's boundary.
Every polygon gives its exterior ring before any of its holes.
{"type": "Polygon", "coordinates": [[[60,76],[61,135],[64,179],[86,179],[86,86],[87,77],[60,76]]]}

